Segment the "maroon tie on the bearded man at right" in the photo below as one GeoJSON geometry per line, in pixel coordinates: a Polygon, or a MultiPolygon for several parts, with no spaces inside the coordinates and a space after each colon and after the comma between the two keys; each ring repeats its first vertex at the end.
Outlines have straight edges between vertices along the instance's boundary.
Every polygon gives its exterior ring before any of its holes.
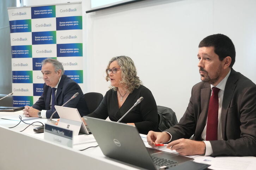
{"type": "Polygon", "coordinates": [[[219,93],[220,89],[212,88],[212,96],[208,107],[208,118],[206,127],[206,140],[217,140],[218,134],[218,112],[219,112],[219,93]]]}

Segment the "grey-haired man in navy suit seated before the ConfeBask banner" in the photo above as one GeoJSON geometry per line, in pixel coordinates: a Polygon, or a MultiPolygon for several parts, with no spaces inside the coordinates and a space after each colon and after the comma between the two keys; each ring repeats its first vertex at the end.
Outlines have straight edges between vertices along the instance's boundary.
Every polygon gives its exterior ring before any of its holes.
{"type": "MultiPolygon", "coordinates": [[[[59,61],[51,58],[43,60],[41,72],[45,82],[43,94],[33,106],[25,106],[23,115],[50,118],[55,111],[55,105],[63,105],[77,92],[79,95],[70,100],[65,107],[77,108],[81,117],[89,114],[80,86],[71,78],[63,75],[64,68],[59,61]]],[[[59,115],[55,113],[53,118],[59,118],[59,115]]]]}

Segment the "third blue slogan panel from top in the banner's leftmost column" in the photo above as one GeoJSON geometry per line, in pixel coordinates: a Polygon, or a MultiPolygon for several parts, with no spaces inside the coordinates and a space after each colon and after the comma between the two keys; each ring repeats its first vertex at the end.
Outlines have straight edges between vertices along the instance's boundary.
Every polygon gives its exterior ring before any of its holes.
{"type": "Polygon", "coordinates": [[[33,71],[12,71],[12,83],[33,83],[33,71]]]}

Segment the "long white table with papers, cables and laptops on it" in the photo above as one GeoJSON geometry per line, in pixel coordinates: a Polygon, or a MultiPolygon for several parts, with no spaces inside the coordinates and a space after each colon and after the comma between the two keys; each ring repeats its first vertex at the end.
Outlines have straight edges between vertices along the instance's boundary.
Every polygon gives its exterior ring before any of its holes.
{"type": "MultiPolygon", "coordinates": [[[[19,116],[18,112],[0,112],[4,116],[19,116]]],[[[46,119],[28,120],[27,123],[46,119]]],[[[123,162],[105,157],[99,147],[79,151],[89,146],[96,146],[97,142],[74,145],[68,148],[44,140],[44,133],[35,133],[30,126],[23,132],[27,124],[20,123],[9,129],[18,121],[0,119],[0,169],[141,169],[123,162]]],[[[84,135],[91,138],[93,135],[84,135]]],[[[255,170],[256,157],[194,157],[195,162],[211,164],[210,169],[247,169],[255,170]]]]}

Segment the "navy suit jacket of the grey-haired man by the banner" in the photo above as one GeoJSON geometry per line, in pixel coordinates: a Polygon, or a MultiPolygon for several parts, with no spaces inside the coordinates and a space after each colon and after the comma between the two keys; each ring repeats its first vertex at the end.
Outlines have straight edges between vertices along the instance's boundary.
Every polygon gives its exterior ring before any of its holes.
{"type": "MultiPolygon", "coordinates": [[[[84,94],[80,88],[80,86],[71,78],[66,75],[62,75],[60,79],[60,83],[57,88],[57,93],[55,96],[55,105],[61,106],[65,102],[67,102],[75,93],[79,92],[79,96],[70,100],[65,107],[73,107],[77,108],[81,117],[89,114],[89,109],[86,105],[84,94]]],[[[47,86],[44,83],[43,94],[37,100],[37,102],[32,106],[38,110],[47,110],[46,117],[50,118],[55,110],[50,110],[51,101],[51,87],[47,86]]],[[[54,114],[53,118],[59,118],[57,112],[54,114]]]]}

